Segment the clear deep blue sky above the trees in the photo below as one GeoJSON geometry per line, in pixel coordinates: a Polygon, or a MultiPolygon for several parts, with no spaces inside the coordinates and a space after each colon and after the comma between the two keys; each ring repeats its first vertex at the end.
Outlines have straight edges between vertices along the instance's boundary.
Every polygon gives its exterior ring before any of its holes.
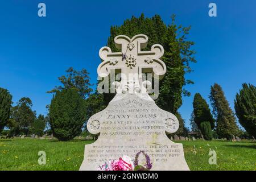
{"type": "MultiPolygon", "coordinates": [[[[33,109],[46,114],[52,95],[47,94],[57,77],[69,67],[86,68],[97,81],[98,50],[106,45],[111,25],[132,15],[159,14],[166,24],[192,26],[189,40],[197,63],[186,77],[186,86],[209,102],[210,85],[224,89],[230,106],[243,82],[256,85],[256,2],[247,1],[21,1],[0,2],[0,87],[9,89],[16,103],[30,97],[33,109]],[[47,17],[39,18],[38,3],[46,3],[47,17]],[[217,17],[208,16],[210,2],[217,4],[217,17]]],[[[193,97],[183,97],[179,111],[189,126],[193,97]]]]}

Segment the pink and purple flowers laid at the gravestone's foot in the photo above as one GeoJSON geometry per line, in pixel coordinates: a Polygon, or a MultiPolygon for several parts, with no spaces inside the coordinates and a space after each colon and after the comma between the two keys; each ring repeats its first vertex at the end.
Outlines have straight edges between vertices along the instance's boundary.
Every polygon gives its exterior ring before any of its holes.
{"type": "Polygon", "coordinates": [[[127,155],[122,156],[119,160],[109,160],[108,163],[98,167],[98,171],[149,171],[152,168],[150,157],[144,152],[139,151],[134,162],[127,155]],[[146,158],[144,166],[139,165],[139,155],[143,154],[146,158]]]}

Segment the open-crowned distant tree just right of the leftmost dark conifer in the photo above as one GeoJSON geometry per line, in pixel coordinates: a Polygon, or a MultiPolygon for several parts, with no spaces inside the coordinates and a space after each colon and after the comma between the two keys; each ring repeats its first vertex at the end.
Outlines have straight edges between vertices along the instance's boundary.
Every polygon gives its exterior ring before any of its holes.
{"type": "MultiPolygon", "coordinates": [[[[31,124],[36,119],[35,111],[32,111],[32,101],[28,97],[22,97],[11,110],[11,119],[18,123],[18,128],[15,129],[16,134],[28,134],[31,124]]],[[[13,122],[14,123],[14,122],[13,122]]],[[[16,126],[16,125],[15,125],[16,126]]]]}

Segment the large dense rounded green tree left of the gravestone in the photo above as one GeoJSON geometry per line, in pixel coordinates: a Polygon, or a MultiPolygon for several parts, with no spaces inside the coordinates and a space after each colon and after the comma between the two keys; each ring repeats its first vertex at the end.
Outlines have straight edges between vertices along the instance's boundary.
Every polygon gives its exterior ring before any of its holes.
{"type": "Polygon", "coordinates": [[[81,133],[85,122],[85,101],[77,89],[56,91],[49,106],[53,135],[59,140],[70,140],[81,133]]]}

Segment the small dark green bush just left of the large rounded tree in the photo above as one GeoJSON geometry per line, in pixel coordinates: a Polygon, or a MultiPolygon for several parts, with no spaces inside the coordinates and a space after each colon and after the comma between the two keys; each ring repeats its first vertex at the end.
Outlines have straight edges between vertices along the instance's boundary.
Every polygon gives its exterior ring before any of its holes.
{"type": "Polygon", "coordinates": [[[42,136],[44,134],[45,127],[46,118],[44,118],[44,115],[39,114],[38,118],[31,124],[30,133],[42,136]]]}

